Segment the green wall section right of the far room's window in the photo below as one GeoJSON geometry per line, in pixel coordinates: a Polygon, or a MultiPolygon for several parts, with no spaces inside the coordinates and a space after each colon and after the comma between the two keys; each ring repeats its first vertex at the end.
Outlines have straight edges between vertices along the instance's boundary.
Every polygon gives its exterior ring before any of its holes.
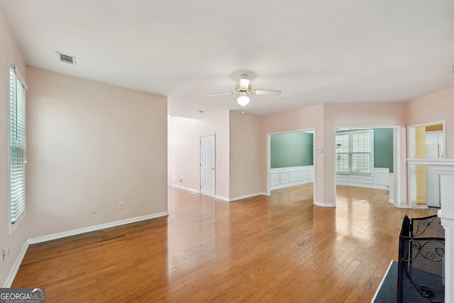
{"type": "Polygon", "coordinates": [[[374,167],[394,172],[392,157],[392,128],[374,129],[374,167]]]}

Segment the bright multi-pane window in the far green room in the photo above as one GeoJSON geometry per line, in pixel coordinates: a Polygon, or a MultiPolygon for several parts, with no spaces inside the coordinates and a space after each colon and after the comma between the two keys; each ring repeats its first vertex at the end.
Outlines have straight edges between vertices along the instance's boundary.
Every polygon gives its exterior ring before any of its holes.
{"type": "Polygon", "coordinates": [[[337,133],[336,172],[371,174],[372,150],[372,130],[337,133]]]}

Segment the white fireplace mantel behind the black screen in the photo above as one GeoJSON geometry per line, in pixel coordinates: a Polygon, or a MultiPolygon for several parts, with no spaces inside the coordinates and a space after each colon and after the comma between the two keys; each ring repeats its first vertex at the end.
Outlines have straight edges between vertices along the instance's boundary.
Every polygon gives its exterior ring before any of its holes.
{"type": "Polygon", "coordinates": [[[440,178],[441,208],[445,228],[445,302],[454,303],[454,159],[408,159],[409,165],[430,165],[440,178]]]}

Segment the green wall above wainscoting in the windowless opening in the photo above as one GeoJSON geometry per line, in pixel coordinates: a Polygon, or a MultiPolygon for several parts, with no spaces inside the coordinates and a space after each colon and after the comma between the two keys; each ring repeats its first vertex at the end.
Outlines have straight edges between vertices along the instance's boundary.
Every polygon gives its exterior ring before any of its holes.
{"type": "Polygon", "coordinates": [[[302,131],[271,135],[271,168],[314,165],[314,134],[302,131]]]}

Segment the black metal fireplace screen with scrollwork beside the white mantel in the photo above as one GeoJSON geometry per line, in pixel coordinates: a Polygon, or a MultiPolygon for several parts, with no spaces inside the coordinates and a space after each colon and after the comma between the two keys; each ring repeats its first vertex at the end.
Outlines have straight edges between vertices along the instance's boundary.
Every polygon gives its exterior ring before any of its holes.
{"type": "Polygon", "coordinates": [[[404,217],[398,267],[397,302],[444,302],[445,231],[438,216],[404,217]]]}

